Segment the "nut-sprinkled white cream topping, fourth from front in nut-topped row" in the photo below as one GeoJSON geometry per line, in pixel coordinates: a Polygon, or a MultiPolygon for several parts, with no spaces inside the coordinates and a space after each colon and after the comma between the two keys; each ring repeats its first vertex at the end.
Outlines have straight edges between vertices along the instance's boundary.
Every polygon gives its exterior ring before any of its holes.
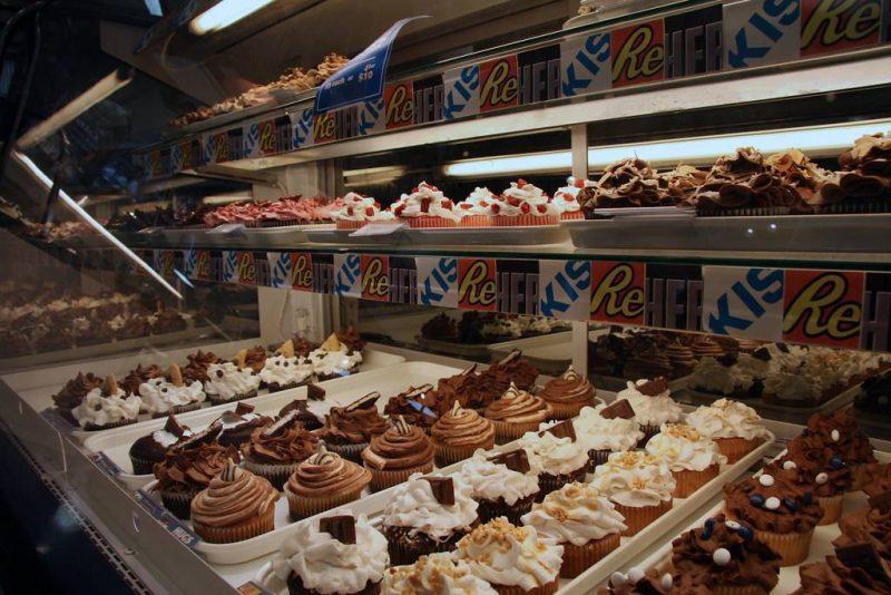
{"type": "Polygon", "coordinates": [[[664,459],[640,451],[613,452],[595,469],[591,485],[614,503],[639,508],[670,501],[675,478],[664,459]]]}

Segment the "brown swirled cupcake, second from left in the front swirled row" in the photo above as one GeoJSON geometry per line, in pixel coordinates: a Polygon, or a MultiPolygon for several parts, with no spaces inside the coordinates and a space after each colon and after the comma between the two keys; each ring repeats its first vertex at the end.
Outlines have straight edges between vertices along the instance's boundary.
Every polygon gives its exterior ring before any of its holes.
{"type": "Polygon", "coordinates": [[[315,455],[297,465],[284,485],[291,518],[311,517],[362,496],[371,471],[329,452],[320,442],[315,455]]]}

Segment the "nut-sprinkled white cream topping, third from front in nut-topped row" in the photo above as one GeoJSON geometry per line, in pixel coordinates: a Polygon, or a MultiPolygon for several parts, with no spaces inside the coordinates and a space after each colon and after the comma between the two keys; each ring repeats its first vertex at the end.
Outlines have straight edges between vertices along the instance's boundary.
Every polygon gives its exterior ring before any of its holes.
{"type": "Polygon", "coordinates": [[[627,527],[625,517],[590,484],[567,484],[522,516],[522,524],[559,544],[585,545],[627,527]]]}

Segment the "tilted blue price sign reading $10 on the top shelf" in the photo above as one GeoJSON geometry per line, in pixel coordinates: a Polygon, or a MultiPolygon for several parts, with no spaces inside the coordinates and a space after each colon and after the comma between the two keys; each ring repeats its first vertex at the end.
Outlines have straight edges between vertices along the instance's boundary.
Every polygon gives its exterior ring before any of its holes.
{"type": "Polygon", "coordinates": [[[410,17],[394,22],[371,46],[325,80],[315,94],[315,113],[379,98],[383,94],[386,64],[399,31],[407,23],[428,17],[410,17]]]}

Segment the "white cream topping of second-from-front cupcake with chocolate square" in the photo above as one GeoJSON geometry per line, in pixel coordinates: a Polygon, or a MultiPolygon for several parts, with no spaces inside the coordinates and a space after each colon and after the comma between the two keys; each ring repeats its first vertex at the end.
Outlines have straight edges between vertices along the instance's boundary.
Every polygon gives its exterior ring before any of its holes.
{"type": "Polygon", "coordinates": [[[456,529],[469,528],[478,518],[477,500],[470,496],[470,486],[452,476],[454,504],[439,504],[430,484],[422,474],[413,474],[400,485],[383,509],[383,524],[390,527],[410,527],[411,535],[427,534],[434,539],[451,537],[456,529]]]}

